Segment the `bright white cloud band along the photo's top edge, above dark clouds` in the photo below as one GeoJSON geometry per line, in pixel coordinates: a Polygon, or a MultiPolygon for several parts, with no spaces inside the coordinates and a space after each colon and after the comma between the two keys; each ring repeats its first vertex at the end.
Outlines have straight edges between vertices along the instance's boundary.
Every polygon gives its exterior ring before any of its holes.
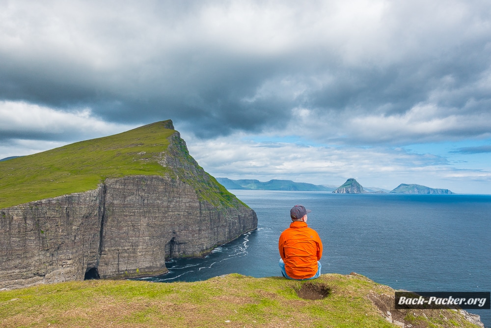
{"type": "Polygon", "coordinates": [[[348,65],[386,65],[489,33],[489,8],[467,1],[18,1],[3,9],[0,49],[31,59],[58,54],[94,69],[207,50],[276,58],[327,52],[348,65]]]}

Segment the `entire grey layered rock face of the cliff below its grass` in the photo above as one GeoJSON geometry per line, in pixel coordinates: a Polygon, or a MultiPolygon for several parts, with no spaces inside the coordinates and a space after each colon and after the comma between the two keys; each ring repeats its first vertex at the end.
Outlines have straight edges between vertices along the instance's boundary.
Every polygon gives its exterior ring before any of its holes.
{"type": "Polygon", "coordinates": [[[253,210],[212,206],[174,179],[108,179],[96,190],[0,211],[0,288],[164,273],[257,227],[253,210]]]}

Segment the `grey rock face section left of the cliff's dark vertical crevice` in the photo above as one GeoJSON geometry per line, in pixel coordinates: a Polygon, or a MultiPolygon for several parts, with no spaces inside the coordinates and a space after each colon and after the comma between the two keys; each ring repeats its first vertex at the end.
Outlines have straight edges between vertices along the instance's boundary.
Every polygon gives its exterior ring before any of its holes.
{"type": "Polygon", "coordinates": [[[1,209],[0,289],[82,280],[96,267],[104,190],[1,209]]]}

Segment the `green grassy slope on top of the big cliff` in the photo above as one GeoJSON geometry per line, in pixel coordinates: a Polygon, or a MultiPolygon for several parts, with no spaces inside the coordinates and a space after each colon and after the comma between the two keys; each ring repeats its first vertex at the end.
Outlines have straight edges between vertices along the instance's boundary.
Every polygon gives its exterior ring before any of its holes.
{"type": "Polygon", "coordinates": [[[106,178],[160,175],[157,163],[175,130],[156,122],[0,162],[0,209],[44,198],[95,189],[106,178]]]}

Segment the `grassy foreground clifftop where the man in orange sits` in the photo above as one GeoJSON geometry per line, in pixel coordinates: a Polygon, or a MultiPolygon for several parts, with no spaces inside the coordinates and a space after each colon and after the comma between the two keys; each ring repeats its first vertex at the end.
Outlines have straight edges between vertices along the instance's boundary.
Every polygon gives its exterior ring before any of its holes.
{"type": "MultiPolygon", "coordinates": [[[[0,326],[397,327],[382,315],[393,307],[393,296],[391,288],[360,275],[323,274],[312,281],[239,274],[192,283],[88,280],[0,291],[0,326]]],[[[414,328],[476,327],[450,310],[403,311],[397,321],[414,328]]]]}

